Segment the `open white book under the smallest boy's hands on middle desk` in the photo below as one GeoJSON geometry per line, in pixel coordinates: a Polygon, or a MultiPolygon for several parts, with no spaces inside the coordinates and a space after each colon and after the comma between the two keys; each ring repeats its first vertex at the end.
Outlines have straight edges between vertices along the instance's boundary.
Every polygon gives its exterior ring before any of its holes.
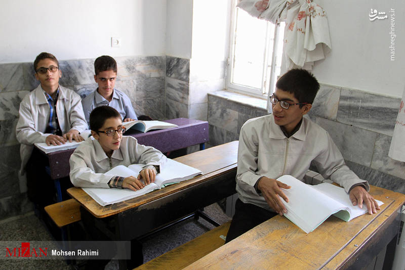
{"type": "MultiPolygon", "coordinates": [[[[129,165],[128,167],[124,165],[119,165],[107,171],[105,174],[111,176],[119,175],[124,177],[132,175],[137,177],[139,172],[142,170],[143,166],[145,166],[145,164],[132,164],[129,165]]],[[[156,174],[155,182],[146,185],[143,189],[140,189],[138,191],[132,191],[130,189],[116,189],[116,188],[111,189],[82,188],[82,189],[101,206],[105,206],[108,204],[129,200],[144,195],[146,193],[149,193],[153,190],[161,189],[168,185],[185,181],[187,179],[193,178],[198,174],[201,174],[200,170],[168,158],[165,166],[160,169],[160,173],[156,174]]]]}

